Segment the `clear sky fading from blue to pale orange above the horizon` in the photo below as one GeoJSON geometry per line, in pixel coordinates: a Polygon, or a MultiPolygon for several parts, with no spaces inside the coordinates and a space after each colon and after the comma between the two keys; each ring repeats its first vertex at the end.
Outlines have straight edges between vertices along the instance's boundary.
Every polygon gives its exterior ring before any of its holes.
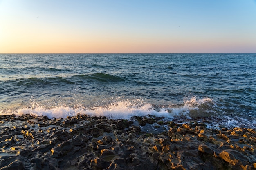
{"type": "Polygon", "coordinates": [[[256,53],[256,0],[0,0],[0,53],[256,53]]]}

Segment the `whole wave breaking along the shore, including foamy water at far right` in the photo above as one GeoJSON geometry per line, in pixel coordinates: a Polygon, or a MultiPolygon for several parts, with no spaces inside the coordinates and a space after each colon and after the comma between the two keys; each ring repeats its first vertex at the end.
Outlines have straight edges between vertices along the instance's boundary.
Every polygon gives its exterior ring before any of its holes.
{"type": "Polygon", "coordinates": [[[66,118],[67,116],[92,115],[104,116],[110,119],[131,119],[133,116],[161,117],[165,121],[187,122],[199,120],[207,122],[207,126],[221,127],[255,127],[255,117],[241,117],[238,115],[223,115],[216,109],[215,102],[210,98],[197,99],[195,97],[184,99],[183,104],[157,106],[144,103],[139,99],[133,101],[115,101],[106,105],[92,107],[84,106],[56,106],[47,108],[34,104],[29,108],[18,111],[0,110],[0,115],[15,114],[16,116],[30,114],[34,116],[47,116],[48,118],[66,118]]]}

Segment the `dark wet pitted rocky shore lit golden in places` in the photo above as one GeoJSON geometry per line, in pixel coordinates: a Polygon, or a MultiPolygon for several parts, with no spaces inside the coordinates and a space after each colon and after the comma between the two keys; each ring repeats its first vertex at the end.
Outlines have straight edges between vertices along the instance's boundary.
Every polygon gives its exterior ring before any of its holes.
{"type": "Polygon", "coordinates": [[[90,169],[254,170],[256,130],[156,117],[0,115],[0,170],[90,169]]]}

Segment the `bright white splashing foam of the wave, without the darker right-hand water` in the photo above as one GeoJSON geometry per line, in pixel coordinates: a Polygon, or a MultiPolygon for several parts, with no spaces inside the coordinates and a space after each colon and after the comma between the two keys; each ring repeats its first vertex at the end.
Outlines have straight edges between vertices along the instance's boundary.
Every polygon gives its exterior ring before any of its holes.
{"type": "Polygon", "coordinates": [[[156,117],[186,117],[190,118],[191,110],[199,110],[201,104],[212,102],[209,98],[196,99],[184,99],[184,104],[163,106],[160,109],[155,109],[151,104],[134,104],[130,101],[119,101],[109,104],[108,106],[95,106],[92,108],[70,108],[68,106],[58,106],[55,108],[46,109],[41,106],[33,106],[33,108],[22,108],[16,113],[17,116],[23,114],[47,116],[49,118],[65,118],[67,116],[75,116],[78,113],[106,116],[112,119],[130,119],[132,116],[146,116],[154,115],[156,117]]]}

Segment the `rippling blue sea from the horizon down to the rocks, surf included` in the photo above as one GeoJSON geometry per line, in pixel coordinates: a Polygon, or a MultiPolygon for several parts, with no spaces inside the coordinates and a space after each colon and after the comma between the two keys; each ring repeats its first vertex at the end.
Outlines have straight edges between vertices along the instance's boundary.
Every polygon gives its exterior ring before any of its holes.
{"type": "Polygon", "coordinates": [[[0,114],[256,128],[256,54],[0,54],[0,114]]]}

